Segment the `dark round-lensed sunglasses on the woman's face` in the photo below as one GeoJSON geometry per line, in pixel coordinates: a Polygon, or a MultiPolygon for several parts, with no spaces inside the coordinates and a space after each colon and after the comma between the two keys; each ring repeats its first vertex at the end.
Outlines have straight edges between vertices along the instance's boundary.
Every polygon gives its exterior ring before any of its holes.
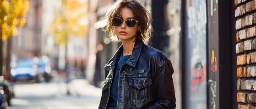
{"type": "MultiPolygon", "coordinates": [[[[113,18],[112,22],[113,22],[114,26],[120,26],[120,25],[122,25],[123,20],[121,18],[115,17],[115,18],[113,18]]],[[[132,18],[125,20],[126,25],[130,28],[134,27],[137,22],[138,22],[138,20],[135,20],[132,18]]]]}

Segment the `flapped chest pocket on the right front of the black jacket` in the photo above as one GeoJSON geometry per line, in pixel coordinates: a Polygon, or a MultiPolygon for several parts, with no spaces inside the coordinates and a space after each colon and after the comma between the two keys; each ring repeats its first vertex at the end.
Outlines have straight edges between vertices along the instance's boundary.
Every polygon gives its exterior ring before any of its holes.
{"type": "Polygon", "coordinates": [[[137,76],[129,79],[131,103],[134,105],[143,105],[151,100],[150,86],[152,81],[150,75],[138,74],[137,76]]]}

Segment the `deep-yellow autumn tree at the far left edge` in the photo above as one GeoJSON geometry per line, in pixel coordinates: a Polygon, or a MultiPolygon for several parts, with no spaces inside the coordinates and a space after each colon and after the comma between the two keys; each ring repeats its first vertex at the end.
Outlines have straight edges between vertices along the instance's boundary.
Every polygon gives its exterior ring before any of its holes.
{"type": "MultiPolygon", "coordinates": [[[[18,35],[17,28],[22,28],[25,25],[28,8],[28,0],[0,0],[0,60],[3,60],[3,40],[18,35]]],[[[9,43],[8,41],[8,46],[9,43]]],[[[8,53],[11,53],[9,47],[7,50],[8,53]]],[[[7,54],[7,56],[9,56],[6,63],[8,69],[11,54],[7,54]]],[[[0,62],[0,75],[2,75],[2,68],[3,61],[0,62]]]]}

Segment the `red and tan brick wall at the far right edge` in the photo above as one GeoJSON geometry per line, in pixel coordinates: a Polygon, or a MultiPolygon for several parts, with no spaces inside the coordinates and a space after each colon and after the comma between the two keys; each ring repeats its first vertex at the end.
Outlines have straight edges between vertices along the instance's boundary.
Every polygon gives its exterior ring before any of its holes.
{"type": "Polygon", "coordinates": [[[235,0],[238,109],[256,109],[256,0],[235,0]]]}

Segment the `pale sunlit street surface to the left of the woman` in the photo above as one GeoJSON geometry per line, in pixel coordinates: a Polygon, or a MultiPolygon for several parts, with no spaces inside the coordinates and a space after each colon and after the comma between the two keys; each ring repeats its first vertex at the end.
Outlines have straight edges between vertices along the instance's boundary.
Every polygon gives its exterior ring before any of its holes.
{"type": "Polygon", "coordinates": [[[15,97],[7,109],[97,109],[101,88],[89,85],[85,79],[73,79],[67,85],[55,78],[50,83],[17,83],[15,97]]]}

